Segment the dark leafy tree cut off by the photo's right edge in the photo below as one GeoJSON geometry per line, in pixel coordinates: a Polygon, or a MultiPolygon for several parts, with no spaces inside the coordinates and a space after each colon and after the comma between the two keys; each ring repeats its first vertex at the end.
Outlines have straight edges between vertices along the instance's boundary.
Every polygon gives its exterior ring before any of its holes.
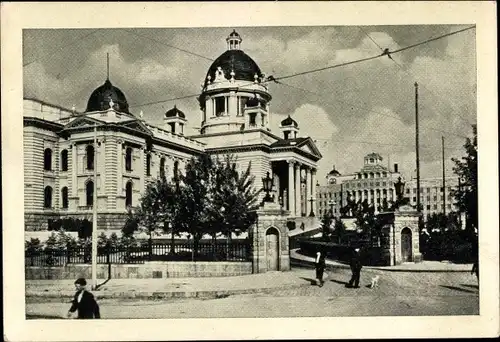
{"type": "Polygon", "coordinates": [[[472,125],[473,137],[464,144],[465,156],[461,160],[452,158],[453,171],[458,175],[460,186],[452,192],[460,212],[466,214],[466,227],[478,229],[477,202],[477,126],[472,125]]]}

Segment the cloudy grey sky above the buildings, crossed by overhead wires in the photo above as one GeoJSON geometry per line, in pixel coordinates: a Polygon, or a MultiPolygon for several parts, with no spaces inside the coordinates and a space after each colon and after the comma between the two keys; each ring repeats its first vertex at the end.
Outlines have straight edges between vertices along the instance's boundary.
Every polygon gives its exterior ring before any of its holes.
{"type": "MultiPolygon", "coordinates": [[[[37,29],[23,32],[24,96],[84,111],[92,91],[110,80],[153,124],[176,105],[196,134],[196,96],[207,70],[226,51],[233,29],[241,49],[266,75],[275,77],[350,62],[460,30],[466,25],[300,26],[176,29],[37,29]],[[187,51],[187,52],[186,52],[187,51]],[[191,53],[188,53],[191,52],[191,53]],[[171,100],[178,97],[184,99],[171,100]],[[169,101],[165,101],[169,100],[169,101]],[[151,102],[160,102],[149,104],[151,102]]],[[[323,158],[318,181],[335,165],[358,171],[377,152],[415,177],[415,86],[419,88],[420,175],[441,177],[464,154],[476,123],[475,30],[436,40],[392,56],[284,79],[271,84],[271,129],[290,115],[300,136],[315,140],[323,158]]]]}

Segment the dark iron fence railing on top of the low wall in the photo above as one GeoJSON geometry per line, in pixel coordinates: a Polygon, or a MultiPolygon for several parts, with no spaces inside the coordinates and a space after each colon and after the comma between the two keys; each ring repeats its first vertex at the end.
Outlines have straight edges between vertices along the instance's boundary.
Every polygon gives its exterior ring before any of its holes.
{"type": "MultiPolygon", "coordinates": [[[[252,248],[247,240],[204,242],[199,243],[196,250],[192,240],[174,243],[173,250],[170,244],[97,249],[98,264],[142,264],[146,261],[250,261],[251,256],[252,248]]],[[[64,266],[91,262],[90,247],[25,251],[25,266],[64,266]]]]}

